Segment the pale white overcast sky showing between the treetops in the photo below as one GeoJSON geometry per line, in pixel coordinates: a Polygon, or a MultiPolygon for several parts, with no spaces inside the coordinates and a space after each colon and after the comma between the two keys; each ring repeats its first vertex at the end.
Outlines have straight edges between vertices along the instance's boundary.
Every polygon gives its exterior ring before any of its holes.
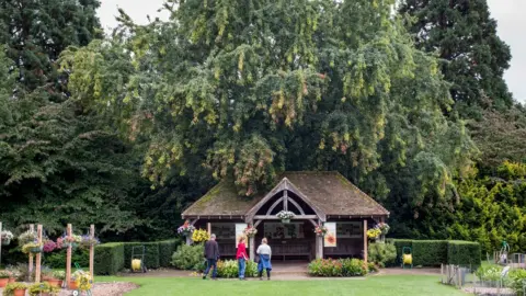
{"type": "MultiPolygon", "coordinates": [[[[165,19],[168,14],[159,13],[157,10],[162,7],[164,0],[101,0],[99,16],[105,30],[115,27],[117,22],[117,7],[138,23],[146,23],[146,15],[151,19],[160,16],[165,19]]],[[[512,61],[510,69],[505,72],[510,91],[517,101],[526,103],[526,80],[523,81],[522,70],[526,70],[526,0],[488,0],[490,13],[498,21],[499,36],[510,45],[512,49],[512,61]]]]}

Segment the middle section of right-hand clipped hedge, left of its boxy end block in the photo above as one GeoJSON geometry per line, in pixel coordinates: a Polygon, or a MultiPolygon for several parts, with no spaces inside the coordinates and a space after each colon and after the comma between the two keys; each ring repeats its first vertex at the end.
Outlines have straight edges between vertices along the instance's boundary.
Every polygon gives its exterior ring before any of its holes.
{"type": "Polygon", "coordinates": [[[447,240],[413,240],[413,264],[436,266],[447,262],[447,240]]]}

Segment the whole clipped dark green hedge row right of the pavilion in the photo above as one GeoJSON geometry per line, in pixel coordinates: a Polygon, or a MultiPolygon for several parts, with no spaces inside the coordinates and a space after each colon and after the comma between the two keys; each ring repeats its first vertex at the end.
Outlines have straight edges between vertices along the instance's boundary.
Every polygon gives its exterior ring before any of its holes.
{"type": "Polygon", "coordinates": [[[472,266],[480,265],[481,249],[478,242],[457,240],[388,240],[397,248],[397,257],[402,255],[403,247],[411,247],[413,264],[437,266],[442,263],[472,266]]]}

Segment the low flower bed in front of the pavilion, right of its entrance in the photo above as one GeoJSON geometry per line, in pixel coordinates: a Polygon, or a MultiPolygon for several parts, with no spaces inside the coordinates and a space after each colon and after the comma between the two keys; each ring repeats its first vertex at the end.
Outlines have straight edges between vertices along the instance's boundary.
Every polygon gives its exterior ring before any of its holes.
{"type": "Polygon", "coordinates": [[[364,276],[368,265],[359,259],[317,259],[309,263],[312,276],[364,276]]]}

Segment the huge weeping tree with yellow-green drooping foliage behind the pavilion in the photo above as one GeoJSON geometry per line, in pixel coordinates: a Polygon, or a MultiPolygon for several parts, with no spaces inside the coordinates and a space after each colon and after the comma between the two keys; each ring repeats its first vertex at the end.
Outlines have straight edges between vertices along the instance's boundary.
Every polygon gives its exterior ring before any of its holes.
{"type": "Polygon", "coordinates": [[[250,197],[284,170],[339,170],[414,219],[455,205],[476,148],[393,2],[172,0],[168,22],[122,12],[61,65],[72,98],[148,141],[153,186],[201,170],[250,197]]]}

